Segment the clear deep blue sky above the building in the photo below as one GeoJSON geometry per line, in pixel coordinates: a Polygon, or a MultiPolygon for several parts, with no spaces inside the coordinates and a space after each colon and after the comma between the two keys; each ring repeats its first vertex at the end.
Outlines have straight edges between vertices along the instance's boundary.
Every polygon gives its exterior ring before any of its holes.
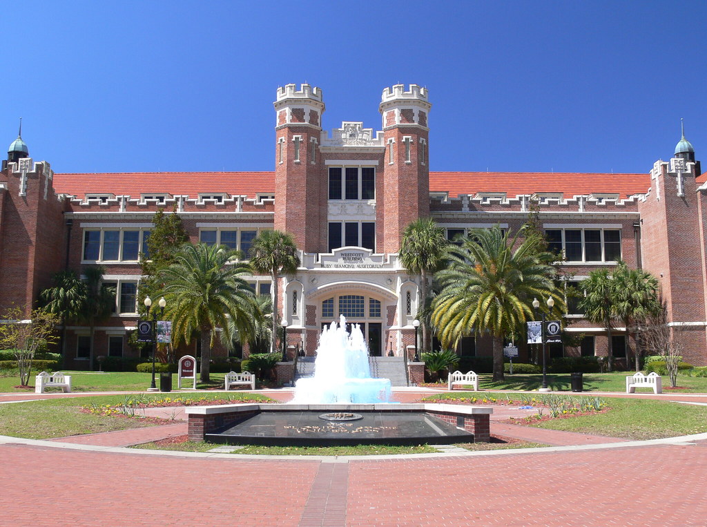
{"type": "Polygon", "coordinates": [[[707,160],[707,2],[22,1],[2,137],[57,172],[273,170],[276,88],[325,129],[429,89],[431,170],[647,172],[680,117],[707,160]],[[678,7],[679,6],[679,7],[678,7]]]}

